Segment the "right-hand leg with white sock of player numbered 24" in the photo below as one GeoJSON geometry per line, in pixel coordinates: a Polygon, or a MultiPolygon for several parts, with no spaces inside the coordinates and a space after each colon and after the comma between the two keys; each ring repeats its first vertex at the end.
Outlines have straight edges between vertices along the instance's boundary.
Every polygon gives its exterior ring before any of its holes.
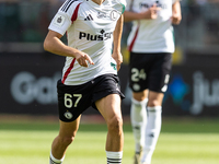
{"type": "Polygon", "coordinates": [[[161,130],[163,93],[149,91],[148,120],[146,126],[145,148],[141,162],[150,164],[161,130]]]}

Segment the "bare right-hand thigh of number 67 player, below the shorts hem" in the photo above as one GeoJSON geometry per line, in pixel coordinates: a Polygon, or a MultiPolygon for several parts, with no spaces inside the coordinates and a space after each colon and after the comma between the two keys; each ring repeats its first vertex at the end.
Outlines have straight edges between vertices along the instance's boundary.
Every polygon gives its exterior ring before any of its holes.
{"type": "Polygon", "coordinates": [[[95,106],[106,122],[110,122],[114,118],[122,119],[120,102],[118,94],[110,94],[96,101],[95,106]]]}

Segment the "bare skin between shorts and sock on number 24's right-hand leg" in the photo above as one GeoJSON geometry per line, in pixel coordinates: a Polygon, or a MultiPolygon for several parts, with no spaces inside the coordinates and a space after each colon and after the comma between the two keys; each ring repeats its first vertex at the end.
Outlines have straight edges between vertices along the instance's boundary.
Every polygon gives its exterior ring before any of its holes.
{"type": "Polygon", "coordinates": [[[161,92],[149,91],[148,106],[161,106],[164,94],[161,92]]]}

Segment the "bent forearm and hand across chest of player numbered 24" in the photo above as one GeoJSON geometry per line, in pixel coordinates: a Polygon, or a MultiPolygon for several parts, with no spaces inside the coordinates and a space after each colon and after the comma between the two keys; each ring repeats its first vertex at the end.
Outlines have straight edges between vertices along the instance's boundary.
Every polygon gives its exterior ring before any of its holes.
{"type": "Polygon", "coordinates": [[[130,21],[136,21],[136,20],[151,20],[151,19],[157,19],[158,17],[158,11],[160,8],[158,8],[155,4],[153,4],[149,10],[143,11],[143,12],[132,12],[132,11],[125,11],[124,12],[124,21],[125,22],[130,22],[130,21]]]}

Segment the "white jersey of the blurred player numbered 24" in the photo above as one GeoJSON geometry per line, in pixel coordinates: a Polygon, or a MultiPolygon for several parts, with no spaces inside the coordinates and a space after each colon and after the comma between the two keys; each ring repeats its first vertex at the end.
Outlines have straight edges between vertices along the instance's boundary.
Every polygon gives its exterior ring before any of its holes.
{"type": "Polygon", "coordinates": [[[173,52],[172,4],[178,0],[127,0],[127,11],[147,11],[154,3],[161,8],[155,20],[134,21],[128,48],[134,52],[173,52]],[[132,2],[131,2],[132,1],[132,2]],[[131,4],[132,3],[132,4],[131,4]]]}

